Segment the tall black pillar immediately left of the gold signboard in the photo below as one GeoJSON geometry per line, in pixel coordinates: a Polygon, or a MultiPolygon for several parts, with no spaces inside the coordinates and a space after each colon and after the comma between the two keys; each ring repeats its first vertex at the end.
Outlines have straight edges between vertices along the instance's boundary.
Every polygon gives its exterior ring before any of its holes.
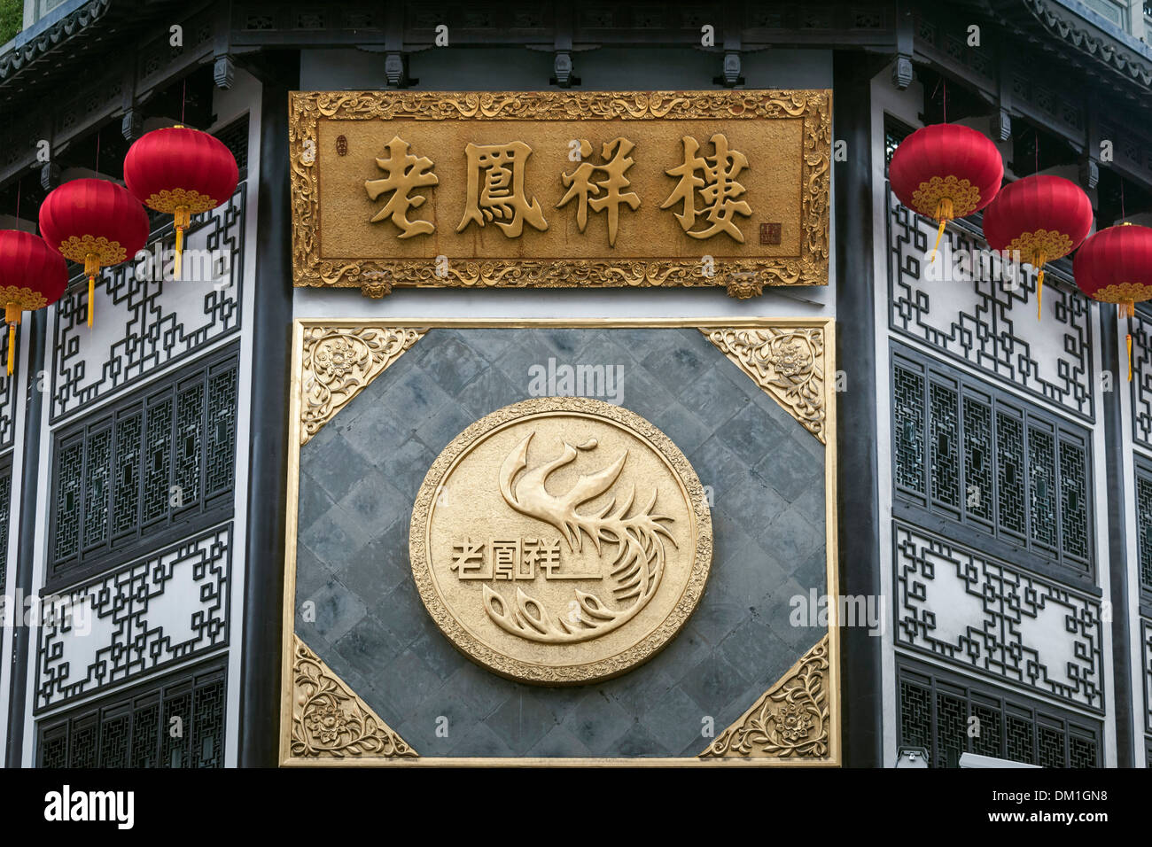
{"type": "Polygon", "coordinates": [[[288,92],[298,85],[300,54],[260,55],[249,66],[262,82],[256,309],[244,544],[244,637],[241,657],[240,765],[278,764],[280,635],[288,474],[291,345],[291,220],[288,92]]]}

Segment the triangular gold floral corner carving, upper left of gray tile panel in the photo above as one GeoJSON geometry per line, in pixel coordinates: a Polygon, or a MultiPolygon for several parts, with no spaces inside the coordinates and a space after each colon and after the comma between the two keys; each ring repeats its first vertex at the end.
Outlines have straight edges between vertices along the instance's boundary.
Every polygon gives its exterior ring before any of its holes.
{"type": "Polygon", "coordinates": [[[306,326],[301,351],[301,446],[426,332],[407,326],[306,326]]]}

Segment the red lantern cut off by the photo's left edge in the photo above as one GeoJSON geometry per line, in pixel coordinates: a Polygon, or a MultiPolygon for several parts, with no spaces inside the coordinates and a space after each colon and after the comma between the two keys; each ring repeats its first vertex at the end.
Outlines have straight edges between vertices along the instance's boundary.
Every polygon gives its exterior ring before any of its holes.
{"type": "Polygon", "coordinates": [[[16,229],[0,230],[0,301],[8,323],[8,376],[15,362],[21,312],[52,305],[67,287],[68,267],[44,239],[16,229]]]}

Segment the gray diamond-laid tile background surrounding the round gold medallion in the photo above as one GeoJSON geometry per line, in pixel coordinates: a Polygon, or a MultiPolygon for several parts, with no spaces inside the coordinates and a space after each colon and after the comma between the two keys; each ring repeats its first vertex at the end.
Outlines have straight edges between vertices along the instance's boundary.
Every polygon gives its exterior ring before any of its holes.
{"type": "MultiPolygon", "coordinates": [[[[604,399],[604,398],[601,398],[604,399]]],[[[823,635],[824,446],[692,328],[433,328],[301,452],[296,632],[423,756],[695,756],[823,635]],[[408,559],[429,467],[477,418],[529,396],[532,365],[621,365],[622,404],[713,494],[714,555],[688,623],[592,686],[505,680],[453,648],[408,559]],[[313,620],[301,614],[314,603],[313,620]]]]}

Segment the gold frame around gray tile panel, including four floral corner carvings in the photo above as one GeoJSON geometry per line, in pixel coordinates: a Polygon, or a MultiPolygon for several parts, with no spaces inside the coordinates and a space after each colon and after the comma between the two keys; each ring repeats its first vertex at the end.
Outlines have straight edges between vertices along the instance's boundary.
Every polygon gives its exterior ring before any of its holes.
{"type": "MultiPolygon", "coordinates": [[[[293,327],[288,491],[280,683],[282,766],[839,766],[841,763],[840,630],[828,603],[827,633],[697,757],[424,757],[319,659],[295,633],[300,452],[316,431],[430,328],[524,327],[698,328],[825,449],[826,593],[839,597],[836,520],[835,322],[826,318],[566,319],[296,319],[293,327]],[[789,345],[783,353],[780,345],[789,345]],[[340,366],[331,351],[341,347],[340,366]],[[793,347],[791,345],[795,345],[793,347]],[[797,348],[802,348],[797,354],[797,348]],[[759,355],[756,351],[763,351],[759,355]],[[347,354],[347,355],[346,355],[347,354]],[[801,366],[797,366],[797,362],[801,366]],[[318,379],[318,369],[328,368],[318,379]],[[325,383],[319,385],[318,383],[325,383]],[[318,400],[320,398],[320,400],[318,400]],[[311,710],[312,732],[302,710],[311,710]],[[335,716],[343,743],[316,743],[316,726],[335,716]],[[798,716],[798,718],[797,718],[798,716]],[[806,717],[805,717],[806,716],[806,717]],[[797,724],[796,721],[801,723],[797,724]],[[799,733],[804,729],[804,734],[799,733]],[[812,736],[812,729],[817,735],[812,736]]],[[[320,732],[324,727],[320,726],[320,732]]],[[[329,733],[335,731],[329,728],[329,733]]],[[[329,734],[328,738],[335,738],[329,734]]]]}

